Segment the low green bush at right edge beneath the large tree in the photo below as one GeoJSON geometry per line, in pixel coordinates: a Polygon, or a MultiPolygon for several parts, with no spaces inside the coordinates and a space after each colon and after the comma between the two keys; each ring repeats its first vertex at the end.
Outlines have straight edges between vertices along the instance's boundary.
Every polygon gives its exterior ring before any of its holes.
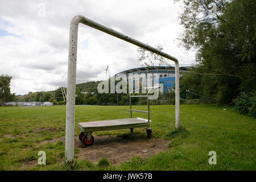
{"type": "Polygon", "coordinates": [[[256,90],[252,90],[250,93],[243,92],[234,100],[234,103],[238,113],[256,118],[256,90]]]}

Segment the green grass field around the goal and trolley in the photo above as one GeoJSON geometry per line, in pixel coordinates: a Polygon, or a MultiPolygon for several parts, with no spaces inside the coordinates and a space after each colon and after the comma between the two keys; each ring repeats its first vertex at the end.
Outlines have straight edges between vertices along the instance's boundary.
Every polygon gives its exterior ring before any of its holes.
{"type": "MultiPolygon", "coordinates": [[[[65,106],[0,107],[0,170],[255,170],[256,119],[237,114],[233,107],[224,108],[181,105],[183,129],[175,130],[174,105],[151,106],[154,137],[170,140],[170,149],[147,159],[133,156],[129,162],[104,166],[77,156],[72,165],[65,164],[64,143],[47,143],[65,135],[65,106]],[[27,165],[37,162],[41,150],[46,151],[47,165],[27,165]],[[216,165],[209,165],[209,151],[217,152],[216,165]]],[[[146,106],[134,109],[146,110],[146,106]]],[[[78,122],[127,117],[129,106],[76,106],[76,135],[78,122]]],[[[146,139],[144,129],[135,132],[146,139]]],[[[94,135],[129,133],[113,130],[94,135]]]]}

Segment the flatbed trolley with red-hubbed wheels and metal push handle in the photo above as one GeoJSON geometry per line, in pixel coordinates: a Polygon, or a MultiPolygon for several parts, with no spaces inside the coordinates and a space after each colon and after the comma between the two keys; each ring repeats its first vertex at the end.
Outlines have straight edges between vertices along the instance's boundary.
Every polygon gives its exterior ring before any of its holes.
{"type": "Polygon", "coordinates": [[[130,118],[126,119],[113,119],[105,121],[91,121],[78,123],[78,127],[81,130],[79,139],[85,146],[90,146],[94,142],[94,137],[92,135],[93,131],[106,131],[106,130],[119,130],[119,129],[130,129],[133,132],[134,128],[147,127],[147,137],[152,137],[152,129],[150,128],[150,104],[148,96],[153,90],[159,89],[159,86],[146,87],[141,89],[135,89],[130,92],[130,118]],[[132,96],[131,94],[137,90],[150,89],[146,95],[132,96]],[[147,111],[144,110],[134,110],[131,109],[131,98],[132,97],[147,97],[147,111]],[[147,119],[143,118],[133,118],[132,112],[147,113],[147,119]]]}

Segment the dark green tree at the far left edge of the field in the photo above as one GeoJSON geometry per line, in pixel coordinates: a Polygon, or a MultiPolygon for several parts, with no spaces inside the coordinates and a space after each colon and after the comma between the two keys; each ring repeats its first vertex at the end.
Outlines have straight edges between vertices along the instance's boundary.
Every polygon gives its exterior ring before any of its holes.
{"type": "Polygon", "coordinates": [[[0,76],[0,102],[9,102],[15,100],[15,94],[11,94],[10,82],[11,76],[0,76]]]}

